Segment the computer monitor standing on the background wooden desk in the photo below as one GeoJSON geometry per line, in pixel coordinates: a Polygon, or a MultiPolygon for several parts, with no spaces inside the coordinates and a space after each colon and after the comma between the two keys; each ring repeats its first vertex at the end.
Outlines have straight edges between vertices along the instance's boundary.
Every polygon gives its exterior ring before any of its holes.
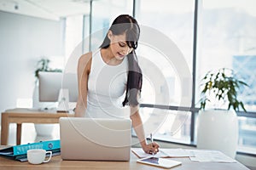
{"type": "Polygon", "coordinates": [[[68,90],[68,101],[76,102],[79,96],[75,73],[39,72],[39,101],[60,102],[61,89],[68,90]]]}

